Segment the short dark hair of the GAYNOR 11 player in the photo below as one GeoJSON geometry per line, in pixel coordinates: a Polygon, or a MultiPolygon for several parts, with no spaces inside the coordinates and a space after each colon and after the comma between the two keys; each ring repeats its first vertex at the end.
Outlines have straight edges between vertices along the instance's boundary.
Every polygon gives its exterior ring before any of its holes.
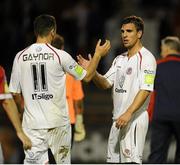
{"type": "Polygon", "coordinates": [[[47,36],[51,30],[56,31],[56,19],[54,16],[42,14],[34,20],[34,33],[36,36],[47,36]]]}

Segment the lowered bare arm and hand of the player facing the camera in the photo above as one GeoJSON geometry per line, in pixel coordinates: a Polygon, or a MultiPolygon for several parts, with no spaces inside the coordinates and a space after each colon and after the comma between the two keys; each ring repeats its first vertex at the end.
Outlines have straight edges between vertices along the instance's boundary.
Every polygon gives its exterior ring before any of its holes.
{"type": "Polygon", "coordinates": [[[150,91],[147,90],[140,90],[136,97],[134,98],[133,103],[129,106],[127,111],[123,113],[117,120],[116,120],[116,127],[121,128],[128,124],[130,121],[132,114],[136,112],[145,102],[147,97],[149,96],[150,91]]]}

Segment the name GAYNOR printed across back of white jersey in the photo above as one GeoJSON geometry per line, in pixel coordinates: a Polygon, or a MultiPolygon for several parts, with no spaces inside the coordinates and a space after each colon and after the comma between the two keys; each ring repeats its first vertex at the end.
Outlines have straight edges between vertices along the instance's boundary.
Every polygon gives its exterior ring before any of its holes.
{"type": "Polygon", "coordinates": [[[54,60],[53,53],[23,54],[23,61],[54,60]]]}

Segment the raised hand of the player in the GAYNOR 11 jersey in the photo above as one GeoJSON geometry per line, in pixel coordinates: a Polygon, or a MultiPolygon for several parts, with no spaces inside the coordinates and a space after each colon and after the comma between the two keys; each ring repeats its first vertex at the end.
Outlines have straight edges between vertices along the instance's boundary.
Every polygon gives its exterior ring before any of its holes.
{"type": "Polygon", "coordinates": [[[110,48],[111,48],[111,43],[109,40],[106,40],[105,43],[101,45],[101,39],[99,39],[96,44],[95,54],[104,57],[105,55],[108,54],[110,48]]]}

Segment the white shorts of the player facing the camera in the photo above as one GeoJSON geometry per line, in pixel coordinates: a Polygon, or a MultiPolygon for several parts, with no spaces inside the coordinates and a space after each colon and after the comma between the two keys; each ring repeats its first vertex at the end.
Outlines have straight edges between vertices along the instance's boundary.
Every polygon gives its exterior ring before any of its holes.
{"type": "Polygon", "coordinates": [[[148,120],[145,111],[122,129],[117,129],[113,122],[108,139],[108,163],[142,163],[148,120]]]}

